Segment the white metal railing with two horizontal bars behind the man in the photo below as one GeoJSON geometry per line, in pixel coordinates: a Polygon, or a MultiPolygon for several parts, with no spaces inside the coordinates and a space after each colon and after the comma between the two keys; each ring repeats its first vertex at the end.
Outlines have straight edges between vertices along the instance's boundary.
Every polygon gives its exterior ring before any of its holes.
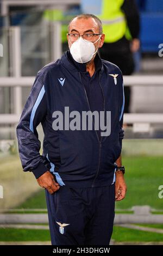
{"type": "MultiPolygon", "coordinates": [[[[124,76],[124,86],[163,86],[163,76],[124,76]]],[[[0,87],[17,88],[15,92],[15,113],[0,114],[0,124],[16,124],[20,119],[22,112],[21,88],[32,87],[35,77],[1,77],[0,87]]],[[[128,124],[134,123],[163,123],[163,114],[161,113],[129,113],[124,114],[124,122],[128,124]]]]}

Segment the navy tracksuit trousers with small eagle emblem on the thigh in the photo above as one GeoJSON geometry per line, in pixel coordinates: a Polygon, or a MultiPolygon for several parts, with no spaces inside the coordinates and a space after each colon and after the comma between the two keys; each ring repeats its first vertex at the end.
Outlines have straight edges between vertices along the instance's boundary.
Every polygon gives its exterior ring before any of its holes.
{"type": "Polygon", "coordinates": [[[115,215],[115,184],[60,186],[46,191],[52,245],[109,245],[115,215]]]}

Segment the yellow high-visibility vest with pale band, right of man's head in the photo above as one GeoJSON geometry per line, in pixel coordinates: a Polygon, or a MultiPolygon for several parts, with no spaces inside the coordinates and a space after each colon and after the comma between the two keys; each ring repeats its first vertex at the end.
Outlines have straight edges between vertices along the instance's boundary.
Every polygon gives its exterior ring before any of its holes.
{"type": "Polygon", "coordinates": [[[105,42],[116,42],[124,35],[131,39],[125,15],[121,10],[124,0],[102,0],[101,14],[97,17],[103,23],[105,42]]]}

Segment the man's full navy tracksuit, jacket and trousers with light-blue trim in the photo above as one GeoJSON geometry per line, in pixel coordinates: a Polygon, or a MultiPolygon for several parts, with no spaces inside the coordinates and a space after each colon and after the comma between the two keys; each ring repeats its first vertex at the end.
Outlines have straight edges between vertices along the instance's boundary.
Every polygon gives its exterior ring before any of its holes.
{"type": "Polygon", "coordinates": [[[64,113],[68,106],[69,112],[82,115],[91,110],[82,71],[68,54],[37,72],[17,126],[20,158],[25,172],[39,178],[49,169],[60,184],[54,194],[46,191],[52,244],[107,245],[114,220],[115,161],[123,139],[122,73],[96,56],[101,61],[96,81],[103,110],[111,111],[109,136],[99,136],[95,129],[53,130],[54,111],[64,113]],[[36,130],[40,123],[45,135],[42,155],[36,130]]]}

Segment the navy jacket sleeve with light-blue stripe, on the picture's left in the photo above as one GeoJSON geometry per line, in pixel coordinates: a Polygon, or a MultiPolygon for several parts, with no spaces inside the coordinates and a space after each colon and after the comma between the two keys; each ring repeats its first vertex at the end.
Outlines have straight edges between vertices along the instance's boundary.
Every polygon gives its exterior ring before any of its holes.
{"type": "Polygon", "coordinates": [[[44,75],[36,75],[32,90],[23,108],[20,121],[16,127],[18,151],[24,172],[32,171],[37,178],[45,173],[47,160],[39,151],[41,143],[36,127],[46,119],[47,101],[44,75]]]}

